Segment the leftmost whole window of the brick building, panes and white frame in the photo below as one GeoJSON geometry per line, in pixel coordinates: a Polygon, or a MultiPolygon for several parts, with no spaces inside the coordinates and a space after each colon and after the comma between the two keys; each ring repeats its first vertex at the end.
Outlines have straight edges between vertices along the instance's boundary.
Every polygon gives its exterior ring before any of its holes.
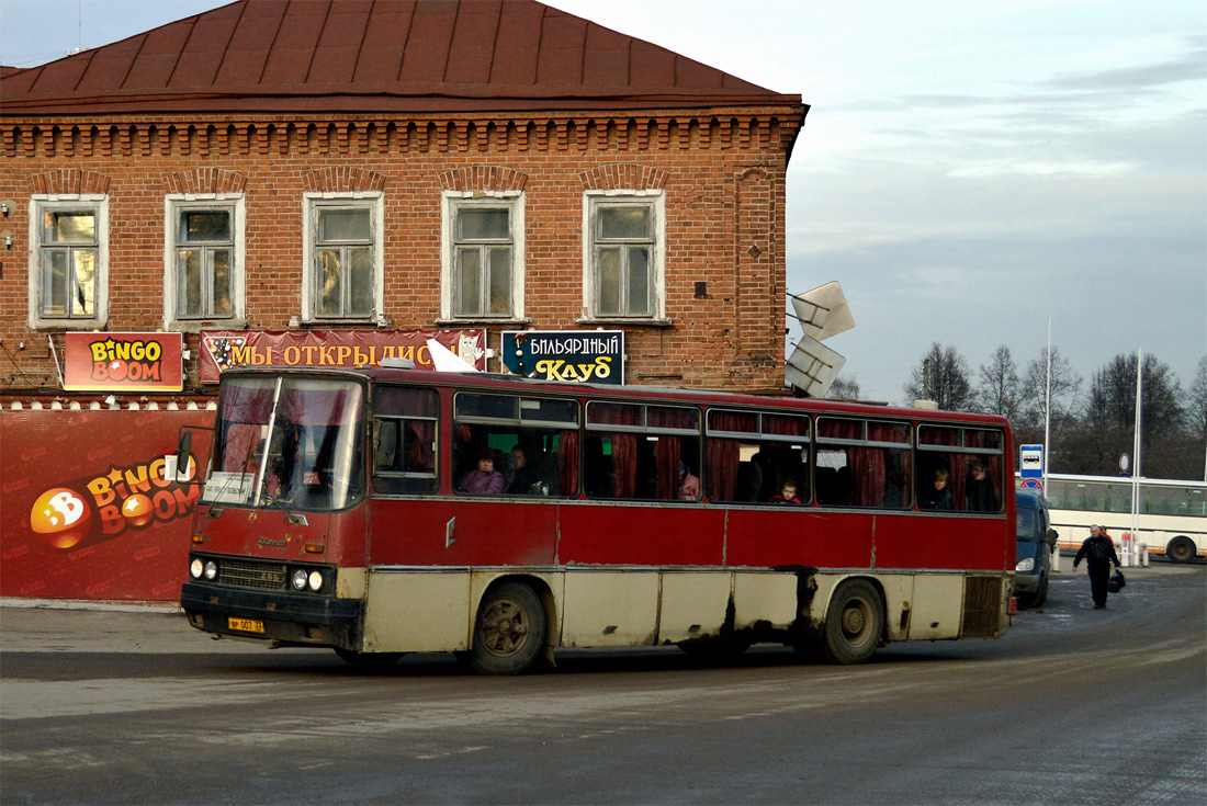
{"type": "Polygon", "coordinates": [[[30,325],[98,327],[107,308],[109,202],[35,197],[30,210],[30,325]]]}

